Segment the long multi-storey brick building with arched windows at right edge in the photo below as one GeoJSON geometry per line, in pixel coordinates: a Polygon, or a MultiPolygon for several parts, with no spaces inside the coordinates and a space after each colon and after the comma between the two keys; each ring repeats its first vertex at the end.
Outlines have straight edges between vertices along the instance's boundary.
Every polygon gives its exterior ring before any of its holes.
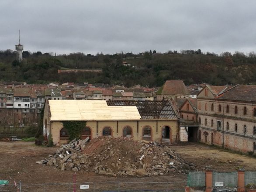
{"type": "Polygon", "coordinates": [[[199,141],[256,152],[256,86],[205,86],[197,103],[199,141]]]}

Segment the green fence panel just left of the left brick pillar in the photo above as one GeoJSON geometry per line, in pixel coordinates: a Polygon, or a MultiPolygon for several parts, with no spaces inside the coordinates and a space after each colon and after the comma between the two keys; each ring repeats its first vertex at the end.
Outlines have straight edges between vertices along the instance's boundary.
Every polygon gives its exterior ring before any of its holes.
{"type": "Polygon", "coordinates": [[[189,187],[204,187],[205,186],[205,172],[194,171],[187,175],[187,186],[189,187]]]}

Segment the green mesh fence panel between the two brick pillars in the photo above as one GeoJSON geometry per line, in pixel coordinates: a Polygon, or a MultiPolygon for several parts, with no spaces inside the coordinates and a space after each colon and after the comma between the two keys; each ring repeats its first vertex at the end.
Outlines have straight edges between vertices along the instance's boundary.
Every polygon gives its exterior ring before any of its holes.
{"type": "Polygon", "coordinates": [[[212,172],[212,184],[214,187],[218,187],[216,185],[217,182],[222,182],[223,187],[236,187],[237,186],[237,171],[231,173],[218,173],[212,172]]]}

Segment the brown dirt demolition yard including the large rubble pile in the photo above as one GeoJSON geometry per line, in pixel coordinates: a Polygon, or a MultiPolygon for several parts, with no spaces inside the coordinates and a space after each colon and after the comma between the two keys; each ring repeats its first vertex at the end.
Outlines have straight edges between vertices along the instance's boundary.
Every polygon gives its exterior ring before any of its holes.
{"type": "Polygon", "coordinates": [[[206,166],[218,172],[233,172],[238,166],[256,169],[255,158],[203,144],[164,146],[100,137],[86,142],[82,151],[82,143],[74,143],[43,147],[35,142],[0,142],[0,178],[9,181],[0,191],[19,186],[24,192],[84,191],[80,185],[95,192],[184,191],[187,173],[205,171],[206,166]]]}

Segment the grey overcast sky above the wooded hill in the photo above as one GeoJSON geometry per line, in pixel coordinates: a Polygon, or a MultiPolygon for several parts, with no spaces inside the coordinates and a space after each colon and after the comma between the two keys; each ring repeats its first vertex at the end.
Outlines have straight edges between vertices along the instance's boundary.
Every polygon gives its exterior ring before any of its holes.
{"type": "Polygon", "coordinates": [[[0,50],[256,52],[255,0],[0,0],[0,50]]]}

